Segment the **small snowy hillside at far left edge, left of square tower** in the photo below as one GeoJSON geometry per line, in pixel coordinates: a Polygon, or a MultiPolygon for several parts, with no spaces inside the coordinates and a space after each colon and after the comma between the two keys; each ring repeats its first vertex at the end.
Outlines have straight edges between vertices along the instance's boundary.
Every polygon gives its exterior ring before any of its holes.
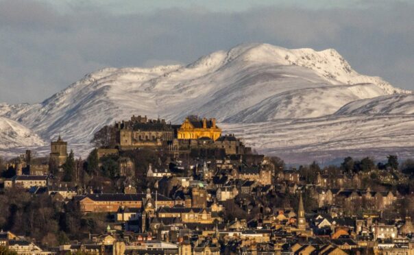
{"type": "Polygon", "coordinates": [[[0,149],[42,145],[45,145],[45,142],[27,127],[11,119],[0,117],[0,149]]]}

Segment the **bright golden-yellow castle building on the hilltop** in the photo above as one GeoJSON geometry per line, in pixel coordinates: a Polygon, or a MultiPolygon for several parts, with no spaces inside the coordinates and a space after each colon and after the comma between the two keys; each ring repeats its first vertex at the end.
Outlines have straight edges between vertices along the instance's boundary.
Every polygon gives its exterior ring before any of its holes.
{"type": "Polygon", "coordinates": [[[216,119],[199,119],[199,117],[187,117],[177,130],[178,139],[211,138],[216,141],[221,136],[221,129],[216,125],[216,119]]]}

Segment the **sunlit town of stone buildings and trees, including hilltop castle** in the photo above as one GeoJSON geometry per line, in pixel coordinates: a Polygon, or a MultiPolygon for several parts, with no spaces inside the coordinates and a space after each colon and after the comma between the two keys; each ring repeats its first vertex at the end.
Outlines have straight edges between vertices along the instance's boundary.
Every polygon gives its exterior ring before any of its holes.
{"type": "Polygon", "coordinates": [[[0,254],[414,254],[414,160],[288,167],[197,116],[64,139],[0,158],[0,254]]]}

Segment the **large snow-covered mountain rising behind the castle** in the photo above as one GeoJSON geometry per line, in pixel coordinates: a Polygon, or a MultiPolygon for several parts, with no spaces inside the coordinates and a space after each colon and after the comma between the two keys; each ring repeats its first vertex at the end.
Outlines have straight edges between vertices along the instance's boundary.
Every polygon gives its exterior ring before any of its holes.
{"type": "MultiPolygon", "coordinates": [[[[260,151],[265,141],[248,137],[272,134],[286,123],[292,123],[289,129],[301,121],[319,125],[321,119],[348,115],[340,114],[347,104],[362,107],[364,103],[357,102],[409,93],[379,77],[360,75],[334,49],[248,44],[211,53],[186,66],[102,69],[40,104],[0,104],[0,116],[25,125],[45,141],[61,134],[69,143],[88,143],[102,125],[132,114],[173,123],[199,114],[217,118],[230,131],[243,130],[249,123],[246,141],[260,151]]],[[[314,136],[293,132],[293,140],[294,135],[305,140],[314,136]]],[[[268,142],[277,139],[275,135],[268,142]]],[[[305,148],[306,143],[300,146],[305,148]]]]}

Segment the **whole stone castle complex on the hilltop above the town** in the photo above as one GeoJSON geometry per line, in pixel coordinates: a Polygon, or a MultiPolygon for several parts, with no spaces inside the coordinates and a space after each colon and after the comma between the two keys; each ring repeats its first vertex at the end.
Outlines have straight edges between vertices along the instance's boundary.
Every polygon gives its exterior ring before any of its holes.
{"type": "Polygon", "coordinates": [[[221,135],[216,119],[186,117],[181,125],[171,125],[164,119],[149,119],[135,115],[129,121],[116,122],[118,149],[165,147],[174,154],[188,153],[191,149],[219,149],[226,154],[250,154],[240,139],[221,135]]]}

